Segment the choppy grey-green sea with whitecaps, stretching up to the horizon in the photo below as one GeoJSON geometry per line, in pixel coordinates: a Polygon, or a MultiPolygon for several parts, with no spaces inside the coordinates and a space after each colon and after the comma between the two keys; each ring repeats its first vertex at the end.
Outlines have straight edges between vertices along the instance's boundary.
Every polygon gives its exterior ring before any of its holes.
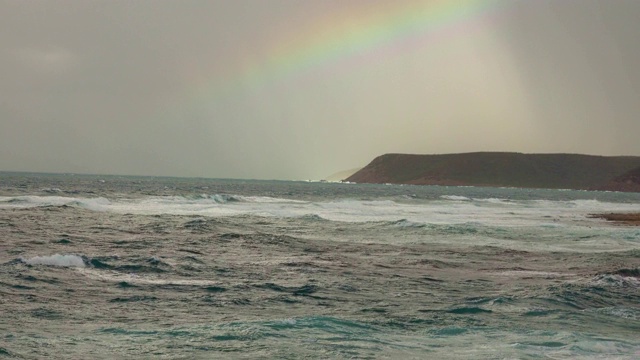
{"type": "Polygon", "coordinates": [[[0,173],[0,358],[638,359],[640,193],[0,173]]]}

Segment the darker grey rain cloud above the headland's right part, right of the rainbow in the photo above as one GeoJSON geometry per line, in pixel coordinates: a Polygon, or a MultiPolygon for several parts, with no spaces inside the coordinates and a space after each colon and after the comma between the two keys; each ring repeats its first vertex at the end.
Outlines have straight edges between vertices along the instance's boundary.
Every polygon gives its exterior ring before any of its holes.
{"type": "Polygon", "coordinates": [[[637,1],[522,2],[503,36],[534,102],[540,149],[640,154],[637,1]]]}

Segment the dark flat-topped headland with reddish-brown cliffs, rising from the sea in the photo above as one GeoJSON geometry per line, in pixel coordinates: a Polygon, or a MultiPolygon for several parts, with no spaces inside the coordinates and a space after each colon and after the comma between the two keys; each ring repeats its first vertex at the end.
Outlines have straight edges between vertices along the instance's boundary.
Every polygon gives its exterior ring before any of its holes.
{"type": "Polygon", "coordinates": [[[640,157],[499,152],[386,154],[346,180],[358,183],[615,190],[606,187],[634,169],[640,171],[640,157]]]}

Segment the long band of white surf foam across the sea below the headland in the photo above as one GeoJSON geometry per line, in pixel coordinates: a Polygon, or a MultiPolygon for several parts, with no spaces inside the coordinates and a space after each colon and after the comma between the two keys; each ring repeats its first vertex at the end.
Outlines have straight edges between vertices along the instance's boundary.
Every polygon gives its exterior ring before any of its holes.
{"type": "Polygon", "coordinates": [[[139,215],[197,215],[222,217],[256,215],[267,217],[316,216],[341,222],[394,222],[408,224],[464,224],[480,226],[564,226],[585,224],[605,226],[603,220],[589,219],[590,213],[640,211],[638,203],[607,203],[597,200],[511,200],[468,198],[445,195],[436,200],[342,199],[301,201],[266,196],[196,195],[150,196],[137,199],[71,198],[61,196],[0,197],[0,208],[35,206],[75,206],[94,211],[139,215]]]}

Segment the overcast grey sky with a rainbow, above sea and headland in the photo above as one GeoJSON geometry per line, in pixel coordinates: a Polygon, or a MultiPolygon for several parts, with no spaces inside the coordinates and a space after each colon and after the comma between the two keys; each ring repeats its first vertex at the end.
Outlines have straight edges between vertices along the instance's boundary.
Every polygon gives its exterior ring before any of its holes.
{"type": "Polygon", "coordinates": [[[640,155],[637,0],[0,0],[0,171],[640,155]]]}

